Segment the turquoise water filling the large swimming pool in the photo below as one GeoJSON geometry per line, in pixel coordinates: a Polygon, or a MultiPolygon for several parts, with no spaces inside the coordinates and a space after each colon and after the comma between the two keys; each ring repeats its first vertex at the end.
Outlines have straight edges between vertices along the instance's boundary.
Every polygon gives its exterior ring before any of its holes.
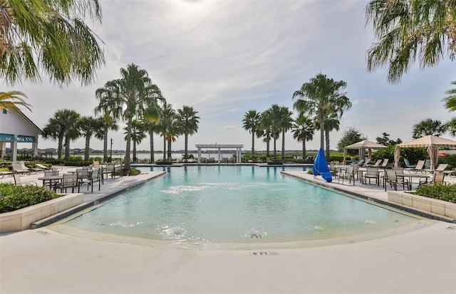
{"type": "Polygon", "coordinates": [[[65,224],[152,240],[277,243],[376,233],[418,221],[280,173],[293,167],[165,169],[164,176],[65,224]]]}

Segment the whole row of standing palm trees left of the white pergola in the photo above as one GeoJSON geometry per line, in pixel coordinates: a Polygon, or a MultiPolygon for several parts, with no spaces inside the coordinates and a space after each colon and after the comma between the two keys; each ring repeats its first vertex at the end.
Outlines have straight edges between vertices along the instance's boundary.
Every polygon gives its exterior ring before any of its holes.
{"type": "Polygon", "coordinates": [[[99,104],[94,112],[97,116],[82,116],[75,110],[58,110],[43,128],[43,137],[58,142],[58,157],[70,158],[70,142],[79,137],[86,140],[84,159],[89,158],[90,139],[94,136],[103,140],[103,160],[108,161],[108,131],[118,130],[118,122],[125,122],[125,169],[130,169],[130,150],[133,142],[133,159],[136,146],[149,135],[150,160],[154,158],[153,135],[163,137],[163,161],[171,159],[171,143],[177,137],[185,137],[185,156],[188,158],[188,136],[198,130],[199,117],[193,107],[184,105],[174,110],[163,97],[160,88],[148,77],[147,71],[130,64],[121,68],[122,78],[110,80],[95,91],[99,104]]]}

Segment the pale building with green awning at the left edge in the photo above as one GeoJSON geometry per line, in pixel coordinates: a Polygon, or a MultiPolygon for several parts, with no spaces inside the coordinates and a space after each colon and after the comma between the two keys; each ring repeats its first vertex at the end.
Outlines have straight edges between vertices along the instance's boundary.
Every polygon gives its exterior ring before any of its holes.
{"type": "Polygon", "coordinates": [[[8,108],[9,111],[0,110],[0,159],[17,160],[18,145],[31,144],[33,157],[38,156],[38,135],[43,135],[40,130],[21,111],[8,108]],[[9,152],[6,147],[9,145],[9,152]]]}

